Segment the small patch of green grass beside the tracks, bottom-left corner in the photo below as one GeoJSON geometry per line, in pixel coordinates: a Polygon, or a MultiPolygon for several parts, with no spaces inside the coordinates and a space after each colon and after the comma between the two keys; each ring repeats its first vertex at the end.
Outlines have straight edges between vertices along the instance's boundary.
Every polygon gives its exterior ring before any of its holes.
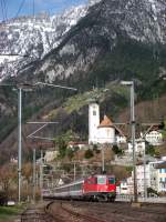
{"type": "Polygon", "coordinates": [[[21,213],[23,206],[0,206],[0,222],[10,222],[12,221],[19,213],[21,213]]]}

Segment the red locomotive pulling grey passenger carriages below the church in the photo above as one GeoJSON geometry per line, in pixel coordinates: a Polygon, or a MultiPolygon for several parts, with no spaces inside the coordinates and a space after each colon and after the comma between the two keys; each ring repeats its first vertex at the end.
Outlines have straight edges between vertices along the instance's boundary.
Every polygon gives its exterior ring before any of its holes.
{"type": "Polygon", "coordinates": [[[75,180],[49,192],[43,190],[43,198],[114,202],[116,198],[115,176],[95,174],[75,180]]]}

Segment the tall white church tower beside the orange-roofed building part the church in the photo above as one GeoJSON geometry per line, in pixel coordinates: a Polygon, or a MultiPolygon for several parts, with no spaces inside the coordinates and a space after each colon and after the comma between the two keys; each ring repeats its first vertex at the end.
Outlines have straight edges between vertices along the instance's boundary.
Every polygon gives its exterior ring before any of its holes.
{"type": "Polygon", "coordinates": [[[89,144],[97,143],[97,127],[100,125],[100,105],[96,100],[89,104],[89,144]]]}

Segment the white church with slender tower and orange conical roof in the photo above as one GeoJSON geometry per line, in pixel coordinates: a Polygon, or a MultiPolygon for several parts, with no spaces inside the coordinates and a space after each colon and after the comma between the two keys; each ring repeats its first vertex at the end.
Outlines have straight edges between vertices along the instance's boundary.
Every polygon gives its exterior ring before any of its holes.
{"type": "Polygon", "coordinates": [[[92,100],[89,104],[89,144],[125,142],[126,138],[111,119],[104,115],[103,120],[100,121],[100,105],[96,100],[92,100]]]}

